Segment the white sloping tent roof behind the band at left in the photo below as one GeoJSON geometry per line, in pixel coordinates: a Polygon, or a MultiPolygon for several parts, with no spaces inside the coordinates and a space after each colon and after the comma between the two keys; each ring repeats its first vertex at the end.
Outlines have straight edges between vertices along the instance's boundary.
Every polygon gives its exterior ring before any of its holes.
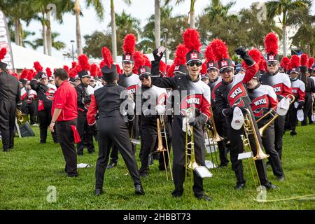
{"type": "Polygon", "coordinates": [[[64,65],[71,66],[71,62],[66,62],[62,59],[51,57],[49,55],[41,54],[35,50],[23,48],[15,43],[11,43],[13,52],[13,63],[15,69],[31,69],[34,66],[34,62],[38,61],[45,69],[62,68],[64,65]]]}

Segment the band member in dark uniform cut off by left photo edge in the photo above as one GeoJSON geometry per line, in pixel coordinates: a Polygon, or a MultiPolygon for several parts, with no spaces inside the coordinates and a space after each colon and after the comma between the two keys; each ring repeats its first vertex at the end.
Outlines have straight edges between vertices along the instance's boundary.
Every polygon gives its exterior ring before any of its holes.
{"type": "Polygon", "coordinates": [[[14,147],[15,111],[21,109],[20,85],[18,80],[11,76],[6,67],[8,64],[1,62],[6,56],[6,48],[0,50],[0,133],[3,152],[14,147]]]}

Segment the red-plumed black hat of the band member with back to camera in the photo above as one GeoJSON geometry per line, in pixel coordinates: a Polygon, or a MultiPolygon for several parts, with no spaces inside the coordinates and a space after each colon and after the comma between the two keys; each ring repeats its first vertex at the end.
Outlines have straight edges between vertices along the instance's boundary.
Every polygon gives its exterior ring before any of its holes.
{"type": "Polygon", "coordinates": [[[113,64],[113,58],[111,57],[111,51],[109,48],[102,48],[103,63],[102,63],[102,74],[103,79],[106,83],[111,83],[113,80],[118,78],[117,68],[113,64]]]}

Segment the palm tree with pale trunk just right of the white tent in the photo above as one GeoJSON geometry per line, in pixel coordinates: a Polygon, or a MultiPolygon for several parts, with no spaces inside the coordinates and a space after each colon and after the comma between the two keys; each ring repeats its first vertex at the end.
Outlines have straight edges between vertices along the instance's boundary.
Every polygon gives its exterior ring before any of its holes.
{"type": "MultiPolygon", "coordinates": [[[[112,0],[111,0],[112,1],[112,0]]],[[[104,7],[102,5],[102,0],[85,0],[87,7],[93,6],[94,10],[97,13],[97,17],[99,19],[104,18],[104,7]]],[[[80,10],[80,4],[78,0],[74,2],[74,13],[76,14],[76,46],[77,46],[77,53],[78,55],[83,54],[82,48],[82,37],[81,37],[81,30],[80,30],[80,15],[82,12],[80,10]]]]}

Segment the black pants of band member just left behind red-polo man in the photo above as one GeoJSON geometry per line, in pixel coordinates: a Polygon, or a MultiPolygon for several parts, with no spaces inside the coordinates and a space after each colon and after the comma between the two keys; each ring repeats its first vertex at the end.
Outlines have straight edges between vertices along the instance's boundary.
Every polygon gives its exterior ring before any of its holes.
{"type": "MultiPolygon", "coordinates": [[[[38,120],[39,120],[39,134],[41,136],[41,143],[45,143],[47,139],[47,130],[51,122],[51,107],[44,107],[43,110],[38,111],[38,120]]],[[[57,130],[52,132],[52,139],[54,142],[58,142],[57,139],[57,130]]],[[[58,131],[57,131],[58,132],[58,131]]]]}

